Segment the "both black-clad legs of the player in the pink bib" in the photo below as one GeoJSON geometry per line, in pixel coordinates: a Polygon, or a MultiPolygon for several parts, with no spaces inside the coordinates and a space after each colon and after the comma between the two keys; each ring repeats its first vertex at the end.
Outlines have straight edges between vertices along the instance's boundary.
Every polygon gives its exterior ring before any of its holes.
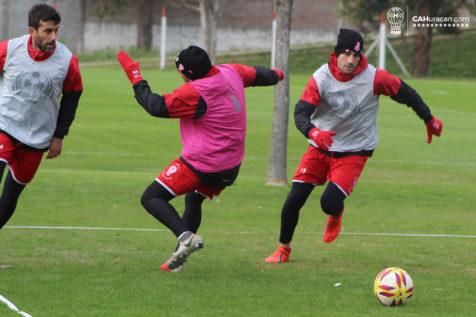
{"type": "Polygon", "coordinates": [[[197,232],[202,219],[202,202],[200,194],[190,192],[185,195],[185,211],[180,218],[177,210],[169,203],[175,198],[158,182],[152,182],[141,198],[142,206],[158,221],[169,228],[176,237],[185,231],[197,232]]]}

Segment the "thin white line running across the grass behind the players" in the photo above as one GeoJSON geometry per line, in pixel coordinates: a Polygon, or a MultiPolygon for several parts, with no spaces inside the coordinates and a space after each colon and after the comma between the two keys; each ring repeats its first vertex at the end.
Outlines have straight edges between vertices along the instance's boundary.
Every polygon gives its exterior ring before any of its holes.
{"type": "MultiPolygon", "coordinates": [[[[142,232],[168,232],[167,229],[155,228],[111,228],[111,227],[55,227],[55,226],[5,226],[7,229],[32,229],[32,230],[89,230],[89,231],[142,231],[142,232]]],[[[231,231],[228,234],[259,234],[252,231],[231,231]]],[[[274,232],[273,232],[274,233],[274,232]]],[[[308,232],[316,234],[316,232],[308,232]]],[[[393,233],[393,232],[342,232],[348,236],[386,236],[386,237],[428,237],[428,238],[466,238],[475,239],[476,235],[464,234],[436,234],[436,233],[393,233]]]]}

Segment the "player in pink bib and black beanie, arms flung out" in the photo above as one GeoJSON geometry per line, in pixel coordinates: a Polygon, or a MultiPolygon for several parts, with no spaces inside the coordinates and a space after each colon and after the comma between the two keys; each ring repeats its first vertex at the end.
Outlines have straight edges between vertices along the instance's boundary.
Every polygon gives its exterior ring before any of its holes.
{"type": "Polygon", "coordinates": [[[244,88],[275,85],[283,73],[259,66],[212,65],[207,52],[190,46],[175,60],[185,84],[158,95],[142,78],[137,62],[124,52],[117,58],[145,111],[155,117],[180,119],[181,156],[157,176],[141,198],[144,208],[178,239],[175,252],[161,266],[164,271],[177,272],[188,255],[203,246],[203,239],[196,234],[202,202],[218,196],[238,176],[246,135],[244,88]],[[180,217],[170,200],[184,194],[185,211],[180,217]]]}

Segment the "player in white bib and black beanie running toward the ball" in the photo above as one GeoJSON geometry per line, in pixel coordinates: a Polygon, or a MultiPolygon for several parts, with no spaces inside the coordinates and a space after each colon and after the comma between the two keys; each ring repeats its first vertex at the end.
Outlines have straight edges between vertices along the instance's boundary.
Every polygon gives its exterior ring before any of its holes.
{"type": "Polygon", "coordinates": [[[433,135],[441,135],[442,121],[420,95],[400,78],[368,64],[363,49],[358,32],[340,29],[329,62],[314,72],[296,104],[294,121],[310,146],[294,174],[281,211],[280,244],[266,258],[268,263],[289,261],[299,211],[314,187],[326,182],[320,199],[328,215],[323,240],[330,243],[337,238],[344,200],[377,146],[380,95],[411,107],[426,125],[428,143],[433,135]]]}

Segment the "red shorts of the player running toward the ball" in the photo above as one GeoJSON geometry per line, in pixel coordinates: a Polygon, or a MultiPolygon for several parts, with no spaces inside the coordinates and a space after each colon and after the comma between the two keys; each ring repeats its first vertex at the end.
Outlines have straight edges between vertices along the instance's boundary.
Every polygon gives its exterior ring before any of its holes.
{"type": "Polygon", "coordinates": [[[324,185],[326,181],[336,184],[348,196],[357,185],[368,156],[350,155],[328,157],[310,146],[293,176],[294,182],[324,185]]]}

